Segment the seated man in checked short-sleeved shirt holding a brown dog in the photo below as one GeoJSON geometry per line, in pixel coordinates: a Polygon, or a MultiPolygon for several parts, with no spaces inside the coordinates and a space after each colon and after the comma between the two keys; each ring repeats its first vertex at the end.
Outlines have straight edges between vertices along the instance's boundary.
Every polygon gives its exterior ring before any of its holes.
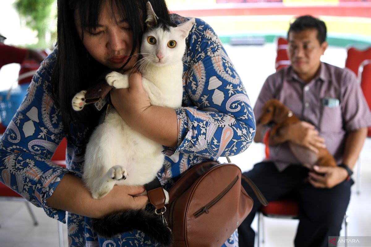
{"type": "MultiPolygon", "coordinates": [[[[328,43],[326,26],[312,16],[301,16],[288,31],[291,66],[265,81],[254,114],[275,98],[302,120],[282,128],[269,139],[270,157],[244,173],[260,188],[267,201],[285,196],[299,204],[295,246],[328,246],[328,236],[339,236],[350,199],[350,178],[371,126],[371,113],[351,71],[320,61],[328,43]],[[314,166],[309,170],[293,156],[288,142],[318,152],[327,147],[337,167],[314,166]]],[[[263,142],[265,127],[257,125],[255,141],[263,142]]],[[[255,196],[243,182],[249,195],[255,196]]],[[[253,247],[250,224],[261,204],[253,197],[252,212],[238,229],[240,247],[253,247]]]]}

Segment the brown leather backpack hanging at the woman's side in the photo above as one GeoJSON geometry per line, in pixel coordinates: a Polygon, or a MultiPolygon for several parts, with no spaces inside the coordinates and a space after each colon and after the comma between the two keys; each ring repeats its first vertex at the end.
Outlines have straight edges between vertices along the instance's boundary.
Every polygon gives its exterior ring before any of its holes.
{"type": "Polygon", "coordinates": [[[263,205],[264,196],[232,163],[208,161],[185,171],[169,191],[147,190],[150,202],[173,233],[174,247],[220,247],[250,213],[253,200],[241,185],[244,179],[263,205]]]}

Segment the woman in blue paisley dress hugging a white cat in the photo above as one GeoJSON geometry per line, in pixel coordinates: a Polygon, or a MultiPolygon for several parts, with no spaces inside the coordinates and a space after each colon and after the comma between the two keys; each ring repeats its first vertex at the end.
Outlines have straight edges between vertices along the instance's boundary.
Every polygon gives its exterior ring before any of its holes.
{"type": "MultiPolygon", "coordinates": [[[[144,29],[147,0],[59,0],[58,49],[42,63],[26,99],[1,139],[1,181],[22,194],[47,215],[65,222],[68,211],[69,246],[158,246],[139,231],[115,239],[98,238],[89,217],[147,204],[133,197],[142,187],[115,186],[94,200],[83,186],[83,152],[101,112],[85,106],[72,111],[76,92],[87,89],[108,69],[129,70],[144,29]],[[50,157],[63,137],[68,139],[67,168],[50,157]]],[[[151,0],[165,20],[187,20],[168,14],[164,0],[151,0]]],[[[196,19],[184,55],[183,107],[151,106],[140,74],[129,89],[111,90],[111,100],[127,123],[165,147],[158,173],[170,188],[188,167],[245,150],[255,134],[255,119],[246,91],[213,29],[196,19]]],[[[102,112],[104,111],[104,108],[102,112]]],[[[237,236],[226,243],[238,246],[237,236]]],[[[224,245],[225,246],[225,245],[224,245]]]]}

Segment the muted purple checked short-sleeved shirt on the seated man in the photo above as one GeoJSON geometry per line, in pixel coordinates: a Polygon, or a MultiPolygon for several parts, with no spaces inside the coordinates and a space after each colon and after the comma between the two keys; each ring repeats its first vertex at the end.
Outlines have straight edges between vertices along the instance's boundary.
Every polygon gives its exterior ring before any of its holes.
{"type": "MultiPolygon", "coordinates": [[[[305,84],[292,67],[285,67],[270,75],[260,91],[254,107],[258,118],[265,102],[278,99],[300,120],[313,124],[336,162],[342,162],[345,134],[371,126],[371,113],[357,78],[348,69],[321,63],[318,75],[305,84]],[[339,104],[327,106],[326,97],[339,104]]],[[[269,146],[269,161],[282,171],[300,162],[293,156],[288,143],[269,146]]]]}

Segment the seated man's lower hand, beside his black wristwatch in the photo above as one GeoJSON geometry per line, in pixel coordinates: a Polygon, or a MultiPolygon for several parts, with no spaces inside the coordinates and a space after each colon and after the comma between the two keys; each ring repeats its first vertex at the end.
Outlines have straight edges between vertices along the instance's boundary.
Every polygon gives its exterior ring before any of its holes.
{"type": "Polygon", "coordinates": [[[316,188],[332,188],[348,177],[348,172],[342,167],[313,166],[309,172],[309,183],[316,188]],[[321,173],[321,174],[318,174],[321,173]]]}

